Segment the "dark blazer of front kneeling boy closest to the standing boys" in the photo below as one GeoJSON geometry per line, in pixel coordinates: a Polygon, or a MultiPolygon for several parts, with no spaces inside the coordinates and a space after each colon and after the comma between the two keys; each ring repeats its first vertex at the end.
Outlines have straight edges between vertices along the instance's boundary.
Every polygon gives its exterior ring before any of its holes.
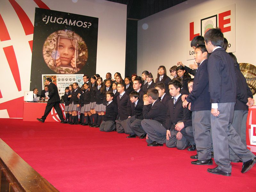
{"type": "Polygon", "coordinates": [[[182,107],[181,95],[173,104],[174,98],[171,98],[167,105],[166,127],[168,130],[175,130],[178,121],[182,121],[184,126],[192,126],[191,112],[188,108],[182,107]]]}

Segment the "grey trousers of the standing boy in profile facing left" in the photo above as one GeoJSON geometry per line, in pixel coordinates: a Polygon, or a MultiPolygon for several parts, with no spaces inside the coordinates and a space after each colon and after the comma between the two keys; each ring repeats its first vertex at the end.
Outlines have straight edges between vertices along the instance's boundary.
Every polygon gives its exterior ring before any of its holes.
{"type": "Polygon", "coordinates": [[[211,111],[193,111],[192,126],[198,160],[204,161],[211,159],[211,111]]]}

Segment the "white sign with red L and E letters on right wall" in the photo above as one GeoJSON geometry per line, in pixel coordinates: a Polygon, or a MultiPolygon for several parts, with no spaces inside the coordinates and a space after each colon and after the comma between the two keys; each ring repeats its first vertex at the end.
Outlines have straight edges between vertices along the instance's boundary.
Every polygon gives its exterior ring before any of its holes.
{"type": "Polygon", "coordinates": [[[228,40],[228,52],[236,52],[236,17],[235,4],[224,7],[188,21],[187,31],[187,60],[194,59],[194,50],[191,48],[191,40],[195,36],[204,36],[211,28],[219,27],[228,40]]]}

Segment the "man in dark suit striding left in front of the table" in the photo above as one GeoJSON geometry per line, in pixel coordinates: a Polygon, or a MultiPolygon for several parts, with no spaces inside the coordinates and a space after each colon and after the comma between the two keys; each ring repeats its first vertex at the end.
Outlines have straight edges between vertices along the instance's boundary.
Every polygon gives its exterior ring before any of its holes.
{"type": "Polygon", "coordinates": [[[48,99],[48,102],[45,107],[44,115],[41,117],[41,119],[37,118],[37,120],[44,123],[44,120],[52,110],[52,107],[54,107],[58,116],[60,117],[60,123],[64,123],[65,119],[63,118],[62,110],[60,109],[60,96],[58,93],[58,88],[54,83],[52,83],[52,79],[50,78],[45,79],[45,84],[48,85],[49,90],[49,95],[45,98],[48,99]]]}

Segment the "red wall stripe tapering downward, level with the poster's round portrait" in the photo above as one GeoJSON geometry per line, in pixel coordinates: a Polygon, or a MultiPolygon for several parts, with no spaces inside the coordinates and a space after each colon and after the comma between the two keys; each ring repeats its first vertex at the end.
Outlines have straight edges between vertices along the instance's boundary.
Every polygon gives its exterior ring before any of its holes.
{"type": "Polygon", "coordinates": [[[12,76],[14,78],[18,91],[21,91],[20,71],[13,46],[11,45],[9,47],[4,47],[3,49],[6,59],[9,63],[10,69],[12,71],[12,76]]]}

